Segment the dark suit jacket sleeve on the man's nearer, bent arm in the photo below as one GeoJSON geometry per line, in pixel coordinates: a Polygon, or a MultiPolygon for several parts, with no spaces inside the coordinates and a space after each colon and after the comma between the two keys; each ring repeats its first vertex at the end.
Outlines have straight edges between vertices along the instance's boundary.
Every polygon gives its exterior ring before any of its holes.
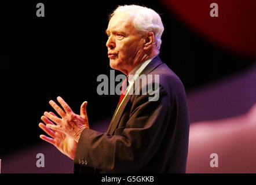
{"type": "MultiPolygon", "coordinates": [[[[154,87],[154,86],[153,86],[154,87]]],[[[75,164],[115,172],[136,172],[159,149],[170,119],[171,96],[159,86],[157,101],[150,95],[134,95],[130,118],[121,135],[84,129],[79,138],[75,164]],[[79,162],[80,161],[80,162],[79,162]]]]}

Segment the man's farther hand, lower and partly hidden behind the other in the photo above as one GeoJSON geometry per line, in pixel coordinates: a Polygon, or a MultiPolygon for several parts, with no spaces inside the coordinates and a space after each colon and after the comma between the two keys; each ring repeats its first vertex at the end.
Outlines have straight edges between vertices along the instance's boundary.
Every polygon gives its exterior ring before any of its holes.
{"type": "MultiPolygon", "coordinates": [[[[54,113],[50,112],[54,116],[56,116],[54,113]]],[[[42,116],[41,120],[45,124],[54,124],[52,121],[47,119],[46,116],[42,116]]],[[[70,138],[69,136],[65,135],[63,132],[59,131],[53,131],[52,129],[49,129],[45,126],[43,123],[39,123],[39,127],[42,128],[43,131],[46,132],[49,136],[52,138],[49,138],[45,135],[40,135],[40,138],[45,140],[46,142],[51,143],[54,145],[58,150],[61,151],[61,153],[65,154],[66,156],[70,157],[72,160],[74,160],[76,147],[78,143],[70,138]]],[[[55,125],[55,124],[54,124],[55,125]]]]}

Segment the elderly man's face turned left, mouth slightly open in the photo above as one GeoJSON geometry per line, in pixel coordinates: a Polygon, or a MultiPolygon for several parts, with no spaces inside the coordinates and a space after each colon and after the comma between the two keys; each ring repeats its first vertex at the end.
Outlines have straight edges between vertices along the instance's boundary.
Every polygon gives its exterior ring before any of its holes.
{"type": "Polygon", "coordinates": [[[126,75],[138,65],[143,53],[144,39],[132,25],[133,16],[127,13],[114,15],[108,23],[109,64],[126,75]]]}

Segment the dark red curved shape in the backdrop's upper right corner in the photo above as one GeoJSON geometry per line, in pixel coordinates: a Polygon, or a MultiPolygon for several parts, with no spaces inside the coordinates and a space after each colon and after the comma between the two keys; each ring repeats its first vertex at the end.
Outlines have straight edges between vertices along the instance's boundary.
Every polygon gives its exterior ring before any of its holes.
{"type": "Polygon", "coordinates": [[[162,0],[162,3],[210,42],[256,58],[256,1],[162,0]],[[211,3],[218,4],[218,17],[210,16],[211,3]]]}

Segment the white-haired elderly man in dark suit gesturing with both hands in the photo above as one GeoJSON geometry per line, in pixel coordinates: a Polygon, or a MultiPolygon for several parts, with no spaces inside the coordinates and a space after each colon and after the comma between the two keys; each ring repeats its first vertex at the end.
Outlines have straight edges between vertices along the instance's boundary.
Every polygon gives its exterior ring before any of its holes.
{"type": "Polygon", "coordinates": [[[152,9],[125,5],[111,14],[106,30],[110,66],[133,77],[124,80],[129,88],[120,95],[107,133],[89,128],[87,102],[82,103],[80,115],[61,97],[57,101],[63,109],[49,102],[61,118],[45,112],[41,119],[46,125],[39,127],[52,138],[40,137],[74,160],[75,173],[185,173],[186,95],[180,79],[158,57],[162,32],[161,18],[152,9]],[[136,86],[136,75],[159,79],[136,86]],[[146,86],[157,88],[157,99],[150,101],[150,88],[147,93],[134,93],[146,86]]]}

